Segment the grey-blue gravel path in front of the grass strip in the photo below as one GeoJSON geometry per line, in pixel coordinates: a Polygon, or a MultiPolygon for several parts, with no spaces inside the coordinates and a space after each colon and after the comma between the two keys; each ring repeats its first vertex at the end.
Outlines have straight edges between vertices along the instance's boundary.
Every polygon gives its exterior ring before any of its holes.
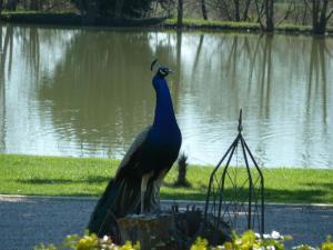
{"type": "MultiPolygon", "coordinates": [[[[68,234],[82,233],[95,202],[89,198],[0,196],[0,249],[29,250],[40,242],[59,243],[68,234]]],[[[163,201],[163,206],[170,204],[163,201]]],[[[333,236],[333,206],[266,204],[265,229],[292,234],[293,246],[317,246],[325,236],[333,236]]]]}

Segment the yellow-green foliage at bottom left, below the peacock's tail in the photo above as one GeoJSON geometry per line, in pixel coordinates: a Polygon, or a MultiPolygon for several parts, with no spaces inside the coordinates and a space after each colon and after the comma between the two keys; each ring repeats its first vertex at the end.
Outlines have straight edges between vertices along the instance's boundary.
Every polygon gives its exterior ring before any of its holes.
{"type": "Polygon", "coordinates": [[[117,246],[112,242],[110,237],[103,237],[99,239],[97,234],[85,232],[84,236],[68,236],[62,243],[59,246],[54,244],[40,244],[34,248],[34,250],[64,250],[64,249],[74,249],[74,250],[139,250],[140,243],[137,242],[132,244],[130,241],[127,241],[123,246],[117,246]]]}

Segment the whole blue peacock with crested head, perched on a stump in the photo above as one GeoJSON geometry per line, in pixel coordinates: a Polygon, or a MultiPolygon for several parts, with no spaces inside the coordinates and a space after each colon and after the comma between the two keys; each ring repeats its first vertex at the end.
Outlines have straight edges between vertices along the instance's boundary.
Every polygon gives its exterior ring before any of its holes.
{"type": "Polygon", "coordinates": [[[110,226],[117,223],[118,218],[160,210],[160,187],[182,142],[165,80],[169,73],[169,68],[159,67],[152,79],[157,93],[153,123],[135,138],[98,201],[88,224],[90,232],[100,237],[112,234],[110,226]]]}

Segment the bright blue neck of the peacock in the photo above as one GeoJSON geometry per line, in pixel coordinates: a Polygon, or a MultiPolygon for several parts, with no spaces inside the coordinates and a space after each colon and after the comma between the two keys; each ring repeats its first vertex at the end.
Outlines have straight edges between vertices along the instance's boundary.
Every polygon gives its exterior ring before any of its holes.
{"type": "Polygon", "coordinates": [[[153,78],[153,87],[157,92],[155,118],[153,126],[159,128],[172,128],[176,126],[172,99],[168,83],[163,77],[153,78]]]}

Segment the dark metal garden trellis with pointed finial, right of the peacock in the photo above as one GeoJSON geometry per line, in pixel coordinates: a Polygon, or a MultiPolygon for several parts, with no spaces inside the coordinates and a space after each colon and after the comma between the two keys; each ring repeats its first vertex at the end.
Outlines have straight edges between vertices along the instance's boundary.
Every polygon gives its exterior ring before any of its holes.
{"type": "Polygon", "coordinates": [[[210,177],[203,228],[228,223],[233,230],[264,232],[264,178],[242,136],[238,136],[210,177]]]}

